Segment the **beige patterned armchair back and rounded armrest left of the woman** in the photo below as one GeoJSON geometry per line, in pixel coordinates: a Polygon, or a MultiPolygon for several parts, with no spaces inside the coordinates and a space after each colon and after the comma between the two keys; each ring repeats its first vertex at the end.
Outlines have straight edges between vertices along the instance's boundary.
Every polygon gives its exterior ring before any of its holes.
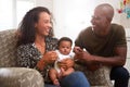
{"type": "Polygon", "coordinates": [[[43,87],[38,71],[16,66],[15,32],[0,32],[0,87],[43,87]]]}

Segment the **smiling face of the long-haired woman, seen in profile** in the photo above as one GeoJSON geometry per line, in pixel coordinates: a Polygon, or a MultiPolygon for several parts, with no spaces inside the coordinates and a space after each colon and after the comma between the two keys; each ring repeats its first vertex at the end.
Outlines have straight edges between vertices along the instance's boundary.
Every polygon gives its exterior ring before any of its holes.
{"type": "Polygon", "coordinates": [[[51,28],[52,28],[52,24],[51,24],[51,15],[48,14],[47,12],[41,12],[39,14],[39,20],[35,25],[36,27],[36,32],[37,34],[41,35],[41,36],[48,36],[51,28]]]}

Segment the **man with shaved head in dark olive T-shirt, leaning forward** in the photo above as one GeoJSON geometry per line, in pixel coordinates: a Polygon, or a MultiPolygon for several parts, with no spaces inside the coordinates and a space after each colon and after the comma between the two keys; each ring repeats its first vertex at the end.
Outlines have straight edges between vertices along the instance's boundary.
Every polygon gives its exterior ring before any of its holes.
{"type": "Polygon", "coordinates": [[[79,34],[75,44],[80,48],[75,48],[74,51],[78,60],[84,61],[92,71],[102,65],[112,66],[110,79],[115,79],[115,87],[128,87],[129,73],[122,67],[127,55],[125,29],[110,23],[113,16],[112,5],[98,5],[91,20],[92,26],[79,34]]]}

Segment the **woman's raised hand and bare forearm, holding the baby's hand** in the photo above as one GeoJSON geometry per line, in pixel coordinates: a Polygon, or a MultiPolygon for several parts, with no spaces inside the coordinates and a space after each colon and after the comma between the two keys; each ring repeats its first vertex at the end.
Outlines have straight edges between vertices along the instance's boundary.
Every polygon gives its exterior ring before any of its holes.
{"type": "Polygon", "coordinates": [[[46,65],[54,63],[56,59],[57,59],[56,52],[55,51],[49,51],[37,63],[37,67],[42,71],[46,65]]]}

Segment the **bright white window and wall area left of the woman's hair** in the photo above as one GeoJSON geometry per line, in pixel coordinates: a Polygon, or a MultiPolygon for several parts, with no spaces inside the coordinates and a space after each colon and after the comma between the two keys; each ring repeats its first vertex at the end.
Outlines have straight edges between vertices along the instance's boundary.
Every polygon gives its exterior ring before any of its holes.
{"type": "Polygon", "coordinates": [[[35,0],[0,0],[0,30],[16,28],[35,0]]]}

